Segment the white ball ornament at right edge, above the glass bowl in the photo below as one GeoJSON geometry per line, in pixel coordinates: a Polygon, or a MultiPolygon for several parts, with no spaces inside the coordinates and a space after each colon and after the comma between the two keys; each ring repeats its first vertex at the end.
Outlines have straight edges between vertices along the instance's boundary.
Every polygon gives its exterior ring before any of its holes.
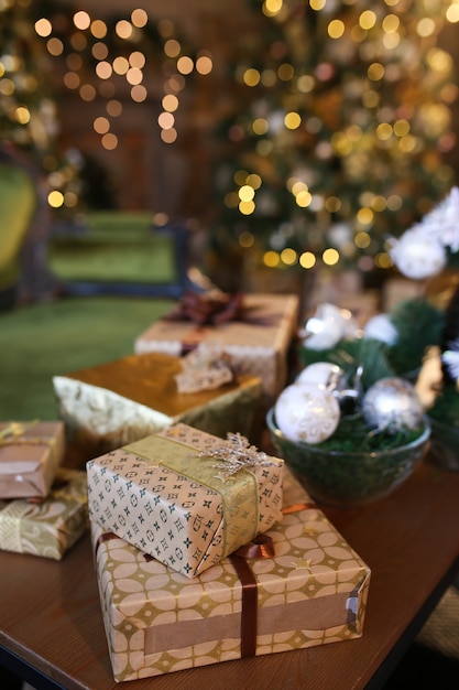
{"type": "Polygon", "coordinates": [[[430,278],[446,266],[446,249],[438,239],[428,237],[420,225],[392,239],[391,259],[401,273],[414,280],[430,278]]]}

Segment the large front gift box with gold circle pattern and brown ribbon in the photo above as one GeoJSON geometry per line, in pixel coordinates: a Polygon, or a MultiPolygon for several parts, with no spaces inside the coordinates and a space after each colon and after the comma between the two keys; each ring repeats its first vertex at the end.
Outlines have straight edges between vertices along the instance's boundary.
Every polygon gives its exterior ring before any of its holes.
{"type": "Polygon", "coordinates": [[[287,468],[284,485],[274,556],[231,556],[192,581],[91,522],[117,681],[362,636],[370,569],[287,468]]]}

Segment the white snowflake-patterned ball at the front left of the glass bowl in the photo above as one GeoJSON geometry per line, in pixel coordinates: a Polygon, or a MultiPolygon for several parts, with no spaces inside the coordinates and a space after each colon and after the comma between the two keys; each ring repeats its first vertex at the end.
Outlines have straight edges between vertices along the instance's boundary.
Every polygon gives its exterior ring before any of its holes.
{"type": "Polygon", "coordinates": [[[292,384],[278,396],[274,414],[291,441],[320,443],[335,432],[340,419],[338,400],[316,384],[292,384]]]}

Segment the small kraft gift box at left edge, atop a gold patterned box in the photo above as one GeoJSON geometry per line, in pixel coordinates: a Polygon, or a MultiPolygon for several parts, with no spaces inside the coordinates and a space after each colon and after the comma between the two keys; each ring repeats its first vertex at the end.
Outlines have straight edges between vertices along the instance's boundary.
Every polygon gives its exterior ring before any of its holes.
{"type": "Polygon", "coordinates": [[[0,423],[0,498],[47,496],[64,451],[62,421],[0,423]]]}

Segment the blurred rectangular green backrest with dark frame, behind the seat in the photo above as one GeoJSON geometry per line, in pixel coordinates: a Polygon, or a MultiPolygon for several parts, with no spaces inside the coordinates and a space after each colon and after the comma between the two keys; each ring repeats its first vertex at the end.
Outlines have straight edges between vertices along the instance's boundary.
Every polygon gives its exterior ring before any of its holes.
{"type": "Polygon", "coordinates": [[[187,229],[147,212],[95,212],[55,223],[47,266],[66,294],[179,298],[188,287],[187,229]]]}

